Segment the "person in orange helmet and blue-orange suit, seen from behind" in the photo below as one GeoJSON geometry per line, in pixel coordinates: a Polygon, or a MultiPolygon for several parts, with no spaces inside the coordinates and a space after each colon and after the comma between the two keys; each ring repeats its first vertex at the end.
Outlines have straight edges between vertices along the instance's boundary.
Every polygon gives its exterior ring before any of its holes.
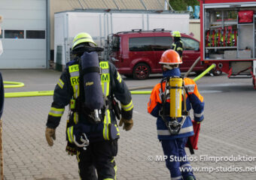
{"type": "MultiPolygon", "coordinates": [[[[177,52],[172,49],[163,52],[160,59],[160,64],[163,68],[163,79],[172,77],[181,77],[181,72],[178,65],[181,64],[181,58],[177,52]]],[[[186,108],[187,111],[194,110],[194,120],[197,122],[203,121],[203,109],[204,101],[203,96],[197,90],[197,84],[194,80],[184,78],[184,89],[186,90],[186,108]]],[[[175,180],[194,180],[196,179],[193,175],[190,163],[184,160],[186,152],[184,147],[187,143],[187,137],[194,135],[193,125],[189,115],[183,118],[181,124],[181,118],[177,118],[177,124],[180,125],[180,129],[176,133],[172,133],[171,118],[170,114],[170,98],[167,95],[166,99],[163,99],[163,92],[165,92],[165,86],[167,82],[161,81],[154,86],[151,92],[151,97],[148,102],[148,113],[157,118],[157,136],[162,143],[163,153],[167,156],[166,167],[169,169],[171,179],[175,180]],[[166,102],[163,104],[163,102],[166,102]],[[165,110],[167,116],[161,114],[165,110]],[[163,118],[164,117],[164,118],[163,118]],[[177,157],[177,158],[175,158],[177,157]],[[175,160],[176,159],[176,160],[175,160]],[[181,170],[183,168],[185,170],[181,170]]],[[[184,102],[184,101],[182,101],[184,102]]],[[[175,104],[175,107],[177,105],[175,104]]],[[[182,105],[184,107],[184,103],[182,105]]]]}

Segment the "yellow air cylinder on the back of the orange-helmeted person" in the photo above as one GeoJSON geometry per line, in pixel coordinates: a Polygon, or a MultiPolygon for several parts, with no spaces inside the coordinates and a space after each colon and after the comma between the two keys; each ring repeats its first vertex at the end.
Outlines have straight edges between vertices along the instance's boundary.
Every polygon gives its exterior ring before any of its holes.
{"type": "Polygon", "coordinates": [[[182,78],[173,77],[169,80],[170,88],[170,117],[181,117],[182,78]]]}

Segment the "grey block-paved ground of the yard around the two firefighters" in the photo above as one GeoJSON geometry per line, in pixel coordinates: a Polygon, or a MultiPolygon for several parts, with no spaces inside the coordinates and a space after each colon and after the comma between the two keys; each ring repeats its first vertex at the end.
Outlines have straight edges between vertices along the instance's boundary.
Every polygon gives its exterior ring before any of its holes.
{"type": "MultiPolygon", "coordinates": [[[[6,92],[53,90],[60,75],[50,70],[1,72],[4,80],[26,85],[20,89],[5,89],[6,92]]],[[[129,87],[154,86],[160,76],[145,81],[124,80],[129,87]]],[[[256,92],[251,79],[228,80],[225,75],[208,76],[197,83],[206,101],[199,150],[190,156],[192,166],[201,168],[201,172],[195,172],[197,179],[256,179],[256,92]],[[230,160],[215,163],[211,158],[203,159],[206,156],[230,160]],[[245,167],[251,167],[251,172],[239,172],[245,167]]],[[[133,95],[135,124],[132,130],[120,132],[116,157],[118,180],[169,179],[165,163],[155,160],[163,151],[157,140],[156,119],[147,113],[148,98],[149,95],[133,95]],[[153,157],[152,161],[149,156],[153,157]]],[[[44,139],[51,102],[52,97],[5,99],[2,117],[5,179],[78,179],[76,159],[65,151],[67,110],[56,130],[53,147],[50,148],[44,139]]]]}

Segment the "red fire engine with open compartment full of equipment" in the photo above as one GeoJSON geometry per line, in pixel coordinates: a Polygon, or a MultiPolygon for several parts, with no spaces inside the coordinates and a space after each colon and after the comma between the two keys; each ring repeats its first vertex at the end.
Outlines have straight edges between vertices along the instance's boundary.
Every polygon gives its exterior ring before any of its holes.
{"type": "Polygon", "coordinates": [[[201,61],[215,63],[229,78],[256,71],[256,1],[200,0],[201,61]]]}

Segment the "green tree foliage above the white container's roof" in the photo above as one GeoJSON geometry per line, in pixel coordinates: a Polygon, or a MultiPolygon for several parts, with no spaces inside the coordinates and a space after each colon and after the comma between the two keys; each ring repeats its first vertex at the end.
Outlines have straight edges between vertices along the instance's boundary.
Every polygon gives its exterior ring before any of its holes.
{"type": "Polygon", "coordinates": [[[173,10],[187,10],[187,6],[200,5],[198,0],[169,0],[173,10]]]}

